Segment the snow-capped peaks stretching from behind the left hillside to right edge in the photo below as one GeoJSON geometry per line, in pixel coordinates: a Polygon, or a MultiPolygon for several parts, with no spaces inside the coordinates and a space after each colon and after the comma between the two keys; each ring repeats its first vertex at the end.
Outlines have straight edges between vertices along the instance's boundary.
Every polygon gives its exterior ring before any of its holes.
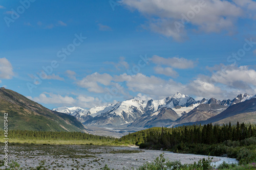
{"type": "Polygon", "coordinates": [[[233,100],[223,101],[214,98],[195,101],[190,96],[177,92],[165,99],[153,100],[145,95],[138,94],[130,100],[105,106],[96,106],[90,109],[61,107],[53,110],[74,115],[86,126],[134,125],[134,127],[138,127],[139,125],[139,127],[151,127],[151,123],[160,125],[161,123],[168,124],[168,121],[173,122],[200,104],[229,107],[252,98],[256,98],[256,95],[239,94],[233,100]]]}

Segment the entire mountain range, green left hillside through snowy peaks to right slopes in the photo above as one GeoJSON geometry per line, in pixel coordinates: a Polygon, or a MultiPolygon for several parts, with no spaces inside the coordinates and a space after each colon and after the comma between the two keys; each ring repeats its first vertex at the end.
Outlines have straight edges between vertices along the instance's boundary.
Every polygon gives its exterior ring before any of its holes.
{"type": "Polygon", "coordinates": [[[161,100],[145,95],[90,109],[60,107],[49,110],[25,96],[0,88],[0,117],[8,113],[9,129],[78,131],[120,137],[151,127],[192,124],[256,123],[256,95],[230,100],[196,101],[179,92],[161,100]]]}

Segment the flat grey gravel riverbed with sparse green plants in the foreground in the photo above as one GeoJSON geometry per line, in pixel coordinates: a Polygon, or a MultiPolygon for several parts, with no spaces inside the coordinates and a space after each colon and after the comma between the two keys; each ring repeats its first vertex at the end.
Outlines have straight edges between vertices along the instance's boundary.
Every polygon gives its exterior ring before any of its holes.
{"type": "MultiPolygon", "coordinates": [[[[23,169],[35,169],[41,160],[45,160],[47,169],[100,169],[105,164],[114,169],[138,168],[145,162],[152,162],[161,153],[170,161],[193,163],[207,158],[203,155],[177,154],[167,151],[140,150],[137,147],[115,147],[103,145],[46,145],[46,144],[11,144],[9,161],[14,160],[23,169]]],[[[3,158],[4,153],[1,152],[3,158]]],[[[210,157],[211,158],[211,157],[210,157]]],[[[217,165],[223,161],[237,163],[235,159],[213,157],[217,165]]],[[[0,168],[4,168],[3,166],[0,168]]]]}

